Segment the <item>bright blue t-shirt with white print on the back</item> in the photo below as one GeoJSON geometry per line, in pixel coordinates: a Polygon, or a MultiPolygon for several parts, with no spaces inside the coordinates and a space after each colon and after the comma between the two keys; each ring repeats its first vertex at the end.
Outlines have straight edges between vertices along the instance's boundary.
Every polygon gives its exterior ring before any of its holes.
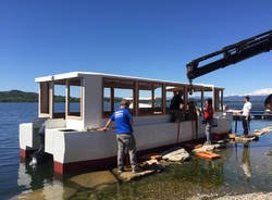
{"type": "Polygon", "coordinates": [[[129,120],[133,120],[133,116],[126,109],[119,109],[112,115],[111,120],[115,121],[118,134],[133,133],[132,125],[129,120]]]}

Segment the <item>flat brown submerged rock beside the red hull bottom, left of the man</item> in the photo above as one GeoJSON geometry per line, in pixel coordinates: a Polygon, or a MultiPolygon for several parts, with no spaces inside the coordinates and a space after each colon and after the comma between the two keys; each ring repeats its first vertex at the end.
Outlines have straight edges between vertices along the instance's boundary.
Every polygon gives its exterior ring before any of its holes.
{"type": "Polygon", "coordinates": [[[102,189],[111,184],[118,183],[118,179],[110,171],[81,174],[72,177],[71,180],[83,187],[95,189],[102,189]]]}

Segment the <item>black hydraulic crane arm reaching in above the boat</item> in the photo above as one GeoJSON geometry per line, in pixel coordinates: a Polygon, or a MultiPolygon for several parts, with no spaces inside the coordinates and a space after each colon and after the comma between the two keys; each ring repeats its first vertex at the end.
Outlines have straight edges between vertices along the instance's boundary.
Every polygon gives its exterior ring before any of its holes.
{"type": "Polygon", "coordinates": [[[272,30],[224,47],[220,51],[215,51],[199,59],[193,60],[186,65],[187,77],[191,83],[194,78],[244,61],[262,52],[268,52],[270,50],[272,50],[272,30]],[[199,66],[200,62],[212,58],[215,59],[215,57],[220,55],[222,55],[222,58],[199,66]]]}

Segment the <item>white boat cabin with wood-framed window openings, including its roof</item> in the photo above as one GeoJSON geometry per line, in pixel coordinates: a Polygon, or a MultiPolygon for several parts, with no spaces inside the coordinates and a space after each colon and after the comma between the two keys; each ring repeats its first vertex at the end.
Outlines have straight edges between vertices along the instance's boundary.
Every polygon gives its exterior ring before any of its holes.
{"type": "Polygon", "coordinates": [[[39,83],[39,117],[64,118],[67,128],[78,130],[103,126],[124,98],[132,102],[129,110],[136,118],[168,115],[177,91],[183,92],[185,104],[197,96],[202,111],[210,97],[214,111],[223,111],[224,88],[211,85],[193,85],[190,96],[188,84],[99,73],[72,72],[35,82],[39,83]]]}

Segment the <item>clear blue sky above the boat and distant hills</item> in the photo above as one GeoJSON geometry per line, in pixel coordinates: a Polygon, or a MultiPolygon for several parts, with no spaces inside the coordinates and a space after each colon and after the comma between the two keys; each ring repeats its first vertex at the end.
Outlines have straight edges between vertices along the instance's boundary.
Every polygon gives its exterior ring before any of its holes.
{"type": "MultiPolygon", "coordinates": [[[[186,63],[272,29],[270,0],[1,0],[0,90],[73,71],[187,82],[186,63]]],[[[272,52],[197,78],[226,93],[272,87],[272,52]]]]}

